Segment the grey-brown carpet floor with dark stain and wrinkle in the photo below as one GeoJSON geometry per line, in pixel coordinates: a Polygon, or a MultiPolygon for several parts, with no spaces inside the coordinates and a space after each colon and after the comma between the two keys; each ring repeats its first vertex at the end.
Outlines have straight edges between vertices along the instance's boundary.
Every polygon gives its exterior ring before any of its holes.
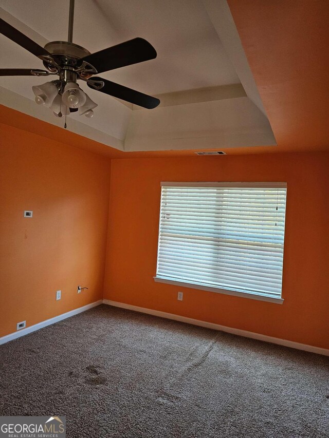
{"type": "Polygon", "coordinates": [[[102,305],[0,357],[0,414],[70,438],[329,437],[324,356],[102,305]]]}

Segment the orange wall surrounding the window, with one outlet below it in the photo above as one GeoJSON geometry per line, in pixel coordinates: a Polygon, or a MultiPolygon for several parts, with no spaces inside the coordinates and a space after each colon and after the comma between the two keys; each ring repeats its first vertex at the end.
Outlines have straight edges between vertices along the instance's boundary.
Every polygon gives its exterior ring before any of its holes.
{"type": "Polygon", "coordinates": [[[104,298],[329,348],[328,168],[327,153],[113,160],[104,298]],[[160,181],[286,181],[284,303],[155,283],[160,181]]]}

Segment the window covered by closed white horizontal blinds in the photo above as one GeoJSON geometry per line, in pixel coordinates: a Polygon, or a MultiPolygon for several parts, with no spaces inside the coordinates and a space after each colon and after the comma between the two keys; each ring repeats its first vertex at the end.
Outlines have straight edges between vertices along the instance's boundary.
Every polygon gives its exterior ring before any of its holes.
{"type": "Polygon", "coordinates": [[[164,182],[155,281],[281,303],[286,183],[164,182]]]}

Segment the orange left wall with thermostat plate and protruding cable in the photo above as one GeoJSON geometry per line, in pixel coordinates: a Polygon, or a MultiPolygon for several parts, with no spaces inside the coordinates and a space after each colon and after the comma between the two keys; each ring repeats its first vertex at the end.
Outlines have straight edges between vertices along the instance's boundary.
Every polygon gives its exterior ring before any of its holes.
{"type": "Polygon", "coordinates": [[[103,295],[111,162],[0,125],[0,336],[103,295]],[[24,218],[24,210],[33,210],[24,218]],[[77,294],[77,286],[89,287],[77,294]],[[56,301],[56,291],[62,299],[56,301]]]}

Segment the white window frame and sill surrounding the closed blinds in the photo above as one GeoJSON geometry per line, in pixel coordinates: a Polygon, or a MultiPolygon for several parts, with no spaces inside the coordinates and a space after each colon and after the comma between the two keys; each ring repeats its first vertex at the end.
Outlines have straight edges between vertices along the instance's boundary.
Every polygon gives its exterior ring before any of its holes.
{"type": "MultiPolygon", "coordinates": [[[[222,182],[222,181],[216,181],[216,182],[197,182],[197,181],[189,181],[189,182],[161,182],[161,194],[162,194],[162,187],[163,186],[169,186],[169,187],[245,187],[245,188],[285,188],[287,189],[287,183],[286,182],[222,182]]],[[[160,195],[161,196],[161,195],[160,195]]],[[[287,199],[287,193],[286,198],[287,199]]],[[[159,249],[160,249],[160,221],[161,221],[161,206],[159,208],[159,230],[158,230],[158,248],[157,248],[157,265],[158,265],[158,257],[159,257],[159,249]]],[[[286,213],[286,203],[285,203],[285,213],[286,213]]],[[[284,216],[284,225],[285,225],[285,216],[284,216]]],[[[282,253],[282,261],[284,256],[284,239],[283,239],[283,253],[282,253]]],[[[283,267],[282,267],[282,280],[283,280],[283,267]]],[[[273,297],[268,296],[266,293],[262,292],[241,292],[234,290],[233,288],[221,288],[221,287],[211,287],[208,285],[200,284],[193,280],[175,280],[171,278],[162,277],[160,275],[155,275],[153,277],[155,282],[159,283],[167,283],[172,285],[177,285],[179,287],[186,287],[190,289],[197,289],[197,290],[204,290],[208,292],[215,292],[225,295],[232,295],[242,298],[250,298],[254,300],[260,300],[260,301],[268,301],[272,303],[282,304],[284,301],[284,298],[282,298],[282,285],[281,285],[281,297],[273,297]]],[[[282,281],[283,284],[283,281],[282,281]]]]}

